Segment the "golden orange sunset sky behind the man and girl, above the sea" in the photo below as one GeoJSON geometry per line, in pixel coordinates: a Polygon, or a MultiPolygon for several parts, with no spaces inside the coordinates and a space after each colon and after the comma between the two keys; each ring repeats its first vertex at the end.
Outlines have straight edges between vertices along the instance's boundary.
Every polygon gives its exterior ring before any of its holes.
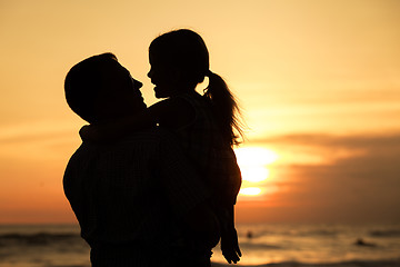
{"type": "Polygon", "coordinates": [[[84,125],[63,79],[113,52],[156,102],[148,46],[199,32],[240,100],[241,222],[400,221],[400,1],[0,0],[0,224],[74,222],[84,125]]]}

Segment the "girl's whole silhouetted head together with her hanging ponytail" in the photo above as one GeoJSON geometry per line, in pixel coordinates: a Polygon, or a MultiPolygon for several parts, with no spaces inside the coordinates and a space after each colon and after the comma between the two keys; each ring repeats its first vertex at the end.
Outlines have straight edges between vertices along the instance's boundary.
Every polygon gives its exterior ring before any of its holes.
{"type": "Polygon", "coordinates": [[[156,38],[149,47],[151,69],[148,77],[156,85],[157,98],[173,97],[209,78],[204,97],[212,103],[213,115],[227,144],[238,144],[241,126],[239,107],[224,80],[210,71],[209,52],[203,39],[192,30],[180,29],[156,38]]]}

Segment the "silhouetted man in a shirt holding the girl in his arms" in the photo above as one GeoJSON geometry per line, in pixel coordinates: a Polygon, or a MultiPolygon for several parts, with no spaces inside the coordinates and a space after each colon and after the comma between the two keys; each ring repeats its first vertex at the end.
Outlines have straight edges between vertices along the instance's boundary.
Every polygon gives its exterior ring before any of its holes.
{"type": "MultiPolygon", "coordinates": [[[[99,125],[140,115],[141,86],[103,53],[72,67],[64,89],[70,108],[99,125]]],[[[218,222],[171,134],[150,127],[107,144],[83,141],[63,186],[92,266],[179,266],[179,258],[210,265],[204,251],[218,243],[218,222]]]]}

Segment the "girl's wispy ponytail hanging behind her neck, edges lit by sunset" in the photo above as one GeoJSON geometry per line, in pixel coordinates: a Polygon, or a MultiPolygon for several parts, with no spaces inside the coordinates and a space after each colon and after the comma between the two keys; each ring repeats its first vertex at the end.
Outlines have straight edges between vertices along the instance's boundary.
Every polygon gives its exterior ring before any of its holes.
{"type": "Polygon", "coordinates": [[[204,89],[204,97],[211,100],[222,137],[230,146],[239,145],[239,137],[243,137],[243,132],[237,100],[219,75],[208,70],[206,76],[209,78],[209,86],[204,89]]]}

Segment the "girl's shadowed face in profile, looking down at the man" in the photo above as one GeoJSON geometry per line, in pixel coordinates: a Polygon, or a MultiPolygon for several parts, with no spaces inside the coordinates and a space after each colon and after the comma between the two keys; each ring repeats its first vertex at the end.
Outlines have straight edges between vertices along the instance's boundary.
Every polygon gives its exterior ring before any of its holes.
{"type": "Polygon", "coordinates": [[[178,90],[179,72],[170,65],[161,62],[157,57],[149,55],[150,71],[148,77],[154,87],[157,98],[168,98],[176,95],[178,90]]]}

